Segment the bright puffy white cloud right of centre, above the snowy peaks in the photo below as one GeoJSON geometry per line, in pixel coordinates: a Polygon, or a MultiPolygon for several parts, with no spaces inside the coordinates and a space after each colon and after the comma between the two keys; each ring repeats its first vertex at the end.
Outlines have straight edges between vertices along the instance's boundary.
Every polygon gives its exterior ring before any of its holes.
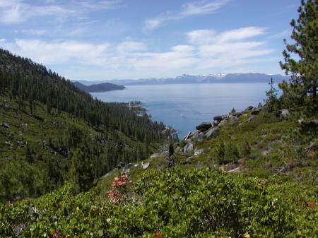
{"type": "Polygon", "coordinates": [[[189,42],[198,46],[201,57],[199,68],[223,68],[247,64],[249,59],[266,56],[273,49],[266,47],[266,41],[250,41],[249,38],[264,35],[265,28],[247,27],[223,32],[215,30],[194,30],[187,33],[189,42]]]}

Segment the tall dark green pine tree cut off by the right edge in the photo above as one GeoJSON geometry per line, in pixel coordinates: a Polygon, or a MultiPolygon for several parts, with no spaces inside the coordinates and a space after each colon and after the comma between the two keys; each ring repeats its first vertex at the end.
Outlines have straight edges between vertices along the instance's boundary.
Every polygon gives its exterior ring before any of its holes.
{"type": "Polygon", "coordinates": [[[285,62],[280,62],[285,73],[291,74],[291,80],[289,84],[283,83],[280,87],[284,93],[283,98],[295,105],[305,103],[307,112],[312,114],[317,112],[318,107],[318,0],[302,0],[298,12],[298,20],[290,22],[293,27],[291,38],[295,43],[286,44],[284,40],[285,62]],[[293,59],[291,54],[296,54],[300,59],[293,59]]]}

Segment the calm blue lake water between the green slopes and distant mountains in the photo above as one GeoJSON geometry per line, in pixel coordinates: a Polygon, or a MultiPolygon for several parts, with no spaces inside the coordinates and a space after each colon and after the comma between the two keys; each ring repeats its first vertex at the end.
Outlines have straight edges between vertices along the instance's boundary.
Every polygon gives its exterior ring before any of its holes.
{"type": "Polygon", "coordinates": [[[91,93],[104,102],[141,101],[156,121],[179,131],[182,138],[202,121],[213,121],[234,107],[242,111],[249,105],[264,103],[267,83],[210,83],[175,85],[131,85],[124,90],[91,93]]]}

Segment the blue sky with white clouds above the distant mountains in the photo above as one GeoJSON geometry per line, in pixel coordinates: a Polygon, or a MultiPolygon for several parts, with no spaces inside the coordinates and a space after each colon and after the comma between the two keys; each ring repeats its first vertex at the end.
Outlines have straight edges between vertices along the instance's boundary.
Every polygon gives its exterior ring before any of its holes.
{"type": "Polygon", "coordinates": [[[0,0],[0,47],[71,80],[280,73],[300,0],[0,0]]]}

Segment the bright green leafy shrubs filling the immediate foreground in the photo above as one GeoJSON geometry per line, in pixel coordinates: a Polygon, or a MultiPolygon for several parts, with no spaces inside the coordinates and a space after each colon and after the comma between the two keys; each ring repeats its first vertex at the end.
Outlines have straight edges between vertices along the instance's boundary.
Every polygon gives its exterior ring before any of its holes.
{"type": "Polygon", "coordinates": [[[136,184],[116,177],[105,194],[74,196],[65,186],[1,204],[1,237],[291,238],[318,232],[317,189],[282,184],[277,177],[150,169],[136,184]]]}

